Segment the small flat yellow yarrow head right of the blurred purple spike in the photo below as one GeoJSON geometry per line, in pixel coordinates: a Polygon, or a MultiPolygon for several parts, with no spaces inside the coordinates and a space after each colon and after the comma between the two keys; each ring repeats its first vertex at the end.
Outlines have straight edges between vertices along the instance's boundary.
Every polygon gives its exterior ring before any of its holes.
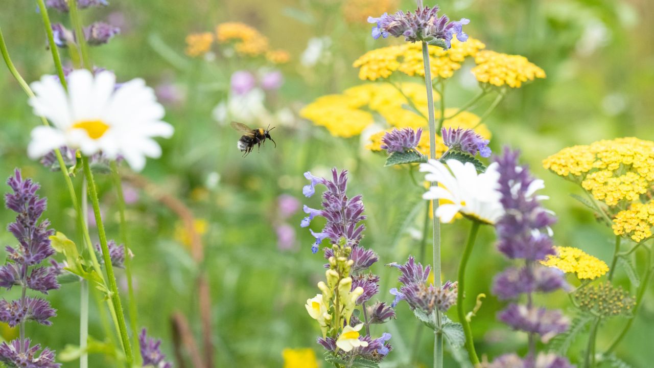
{"type": "Polygon", "coordinates": [[[547,267],[556,267],[567,273],[574,273],[580,280],[594,280],[609,271],[602,261],[579,248],[555,247],[557,255],[549,255],[541,263],[547,267]]]}

